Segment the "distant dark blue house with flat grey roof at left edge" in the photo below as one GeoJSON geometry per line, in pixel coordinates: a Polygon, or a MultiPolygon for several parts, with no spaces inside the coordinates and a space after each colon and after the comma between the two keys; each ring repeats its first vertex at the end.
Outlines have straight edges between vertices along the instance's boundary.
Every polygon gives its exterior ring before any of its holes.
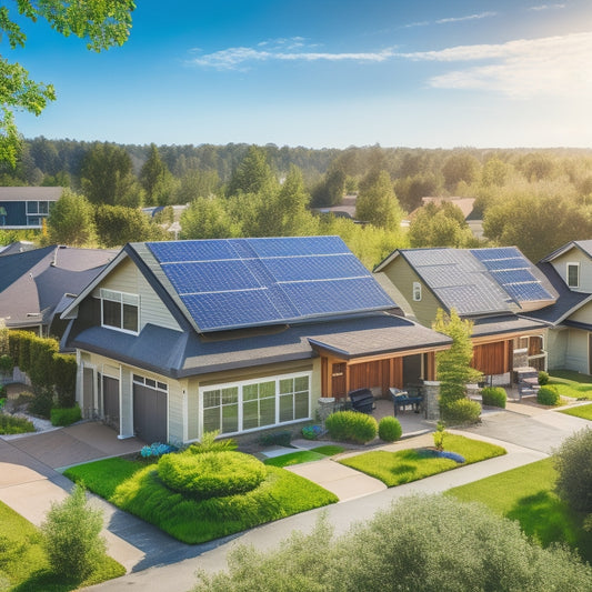
{"type": "Polygon", "coordinates": [[[63,192],[61,187],[0,187],[0,229],[39,229],[63,192]]]}

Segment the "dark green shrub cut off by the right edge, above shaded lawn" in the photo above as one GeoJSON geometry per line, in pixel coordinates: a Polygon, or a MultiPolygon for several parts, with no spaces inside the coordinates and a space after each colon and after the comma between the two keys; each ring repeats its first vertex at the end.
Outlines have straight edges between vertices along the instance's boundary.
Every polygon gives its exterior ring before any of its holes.
{"type": "Polygon", "coordinates": [[[559,496],[574,510],[592,512],[592,430],[585,428],[566,438],[553,460],[559,496]]]}

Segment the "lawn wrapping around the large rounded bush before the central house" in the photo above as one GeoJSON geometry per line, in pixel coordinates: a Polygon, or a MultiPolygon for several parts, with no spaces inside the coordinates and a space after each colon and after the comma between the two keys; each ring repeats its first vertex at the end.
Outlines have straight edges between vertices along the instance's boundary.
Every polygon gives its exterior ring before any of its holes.
{"type": "Polygon", "coordinates": [[[307,479],[268,466],[263,483],[240,495],[195,500],[167,489],[157,465],[107,459],[68,469],[118,508],[189,544],[202,543],[299,512],[335,503],[338,498],[307,479]]]}

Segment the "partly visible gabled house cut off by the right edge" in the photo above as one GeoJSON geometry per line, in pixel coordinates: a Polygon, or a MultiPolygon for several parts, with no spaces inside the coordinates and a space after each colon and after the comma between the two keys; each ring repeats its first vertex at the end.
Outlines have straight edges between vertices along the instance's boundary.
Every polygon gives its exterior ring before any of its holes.
{"type": "Polygon", "coordinates": [[[558,301],[529,314],[549,325],[549,368],[592,373],[592,240],[571,241],[539,263],[558,301]]]}

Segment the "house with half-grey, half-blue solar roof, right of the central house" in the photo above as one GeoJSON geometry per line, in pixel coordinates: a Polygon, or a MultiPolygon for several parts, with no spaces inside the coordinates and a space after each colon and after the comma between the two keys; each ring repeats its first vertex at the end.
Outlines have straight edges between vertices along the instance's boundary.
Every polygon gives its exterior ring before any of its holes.
{"type": "Polygon", "coordinates": [[[374,274],[425,327],[439,308],[473,321],[473,365],[492,383],[510,383],[513,368],[546,369],[546,324],[525,314],[558,293],[519,249],[399,249],[374,274]]]}

